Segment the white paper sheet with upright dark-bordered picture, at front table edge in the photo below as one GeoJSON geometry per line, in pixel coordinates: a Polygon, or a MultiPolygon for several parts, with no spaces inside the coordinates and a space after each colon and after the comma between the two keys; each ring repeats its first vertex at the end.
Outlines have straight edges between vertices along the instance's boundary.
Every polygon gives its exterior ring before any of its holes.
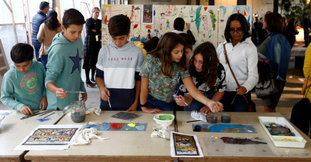
{"type": "Polygon", "coordinates": [[[170,146],[172,157],[203,157],[196,135],[171,131],[170,146]]]}

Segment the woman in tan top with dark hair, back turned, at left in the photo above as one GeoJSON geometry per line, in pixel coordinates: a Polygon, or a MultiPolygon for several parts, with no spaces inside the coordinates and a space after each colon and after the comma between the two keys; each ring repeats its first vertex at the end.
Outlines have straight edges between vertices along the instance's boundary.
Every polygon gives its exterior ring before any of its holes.
{"type": "Polygon", "coordinates": [[[42,43],[39,50],[39,58],[41,58],[41,63],[45,70],[46,63],[48,62],[48,53],[46,49],[51,46],[55,35],[62,31],[60,26],[57,19],[57,12],[52,10],[48,12],[47,19],[39,27],[37,39],[42,43]]]}

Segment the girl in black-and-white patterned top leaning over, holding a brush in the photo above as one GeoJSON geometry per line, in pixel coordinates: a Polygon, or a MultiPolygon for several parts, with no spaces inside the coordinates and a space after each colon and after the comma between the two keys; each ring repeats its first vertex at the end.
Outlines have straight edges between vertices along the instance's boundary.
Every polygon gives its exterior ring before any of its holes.
{"type": "MultiPolygon", "coordinates": [[[[213,44],[211,42],[204,42],[197,46],[189,63],[189,73],[197,89],[207,98],[219,101],[225,93],[226,74],[225,68],[219,62],[213,44]]],[[[180,85],[179,90],[184,93],[184,96],[174,95],[174,97],[179,106],[185,107],[185,111],[196,110],[203,113],[209,112],[208,107],[193,99],[184,84],[180,85]],[[190,107],[187,107],[182,100],[190,107]]]]}

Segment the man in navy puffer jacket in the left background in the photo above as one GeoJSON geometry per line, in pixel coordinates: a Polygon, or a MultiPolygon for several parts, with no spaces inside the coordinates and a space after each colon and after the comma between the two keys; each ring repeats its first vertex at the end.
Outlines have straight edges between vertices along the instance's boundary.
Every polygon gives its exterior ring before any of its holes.
{"type": "Polygon", "coordinates": [[[46,13],[48,13],[50,9],[50,5],[48,2],[41,2],[39,6],[39,11],[35,14],[35,16],[32,18],[32,35],[31,35],[31,42],[35,47],[35,54],[36,59],[40,61],[39,59],[39,50],[41,47],[41,43],[37,39],[38,31],[40,25],[46,20],[46,13]]]}

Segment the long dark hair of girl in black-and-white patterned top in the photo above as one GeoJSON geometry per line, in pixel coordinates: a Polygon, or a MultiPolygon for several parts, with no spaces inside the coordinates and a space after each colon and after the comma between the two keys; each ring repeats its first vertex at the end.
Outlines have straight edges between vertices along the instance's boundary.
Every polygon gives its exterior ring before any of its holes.
{"type": "Polygon", "coordinates": [[[197,46],[197,48],[193,52],[192,58],[189,61],[189,73],[191,76],[193,76],[194,73],[197,72],[194,65],[194,56],[197,54],[201,54],[203,57],[203,73],[201,75],[201,78],[209,88],[213,88],[216,83],[217,66],[219,64],[219,59],[217,57],[215,47],[213,44],[211,44],[211,42],[204,42],[197,46]]]}

